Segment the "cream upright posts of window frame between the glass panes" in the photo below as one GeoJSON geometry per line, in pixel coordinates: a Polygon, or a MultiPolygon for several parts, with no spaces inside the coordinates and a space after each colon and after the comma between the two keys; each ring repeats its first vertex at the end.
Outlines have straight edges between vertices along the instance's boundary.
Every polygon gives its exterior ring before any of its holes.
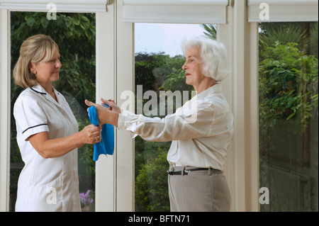
{"type": "MultiPolygon", "coordinates": [[[[259,211],[258,22],[249,22],[248,1],[229,2],[227,23],[218,25],[217,33],[233,68],[222,83],[235,116],[225,176],[231,211],[259,211]]],[[[0,9],[0,50],[0,211],[8,211],[11,90],[7,9],[0,9]]],[[[123,0],[108,1],[106,12],[96,12],[97,103],[101,97],[113,98],[121,106],[126,101],[121,99],[123,91],[134,91],[134,55],[134,23],[123,21],[123,0]]],[[[97,212],[134,211],[134,150],[130,132],[116,130],[113,156],[101,155],[96,162],[97,212]]]]}

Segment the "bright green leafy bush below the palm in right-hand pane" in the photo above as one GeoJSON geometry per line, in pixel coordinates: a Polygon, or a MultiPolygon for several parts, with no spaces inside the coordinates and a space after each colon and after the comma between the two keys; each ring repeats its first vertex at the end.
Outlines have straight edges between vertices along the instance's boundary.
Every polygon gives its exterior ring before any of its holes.
{"type": "Polygon", "coordinates": [[[311,111],[318,106],[318,94],[311,90],[303,93],[303,84],[318,81],[318,59],[305,55],[296,45],[276,41],[262,53],[265,60],[259,64],[259,113],[267,120],[267,128],[276,124],[276,118],[289,120],[299,112],[304,130],[311,111]]]}

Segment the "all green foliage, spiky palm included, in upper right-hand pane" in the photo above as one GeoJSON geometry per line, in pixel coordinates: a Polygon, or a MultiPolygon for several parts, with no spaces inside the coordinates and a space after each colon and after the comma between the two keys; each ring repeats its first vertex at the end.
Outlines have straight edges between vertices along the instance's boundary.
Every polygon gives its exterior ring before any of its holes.
{"type": "Polygon", "coordinates": [[[260,27],[259,132],[271,136],[279,120],[298,118],[300,123],[291,120],[287,132],[304,134],[318,106],[318,23],[260,27]]]}

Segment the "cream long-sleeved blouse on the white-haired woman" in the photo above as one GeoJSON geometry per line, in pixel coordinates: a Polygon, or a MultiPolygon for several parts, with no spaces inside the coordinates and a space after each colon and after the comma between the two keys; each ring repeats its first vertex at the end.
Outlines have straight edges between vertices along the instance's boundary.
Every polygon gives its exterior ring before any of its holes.
{"type": "Polygon", "coordinates": [[[118,128],[130,130],[147,141],[172,141],[167,161],[173,166],[195,166],[223,171],[233,136],[233,113],[221,84],[191,98],[176,113],[148,118],[123,111],[118,128]]]}

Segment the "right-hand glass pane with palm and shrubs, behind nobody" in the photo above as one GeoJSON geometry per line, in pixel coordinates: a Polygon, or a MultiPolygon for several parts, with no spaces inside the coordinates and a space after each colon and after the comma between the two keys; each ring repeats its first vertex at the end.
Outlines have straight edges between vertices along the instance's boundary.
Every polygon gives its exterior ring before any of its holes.
{"type": "Polygon", "coordinates": [[[261,211],[318,211],[318,23],[259,24],[259,171],[261,211]]]}

